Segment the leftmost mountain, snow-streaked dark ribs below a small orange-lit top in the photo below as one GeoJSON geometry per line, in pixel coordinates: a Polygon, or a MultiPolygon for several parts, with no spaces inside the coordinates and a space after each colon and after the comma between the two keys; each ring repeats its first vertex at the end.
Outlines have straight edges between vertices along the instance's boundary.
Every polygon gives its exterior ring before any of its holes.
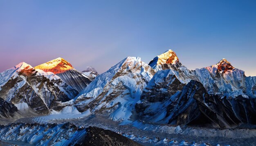
{"type": "Polygon", "coordinates": [[[61,102],[73,99],[78,92],[54,73],[35,70],[22,62],[0,73],[0,97],[15,106],[31,108],[38,114],[59,111],[61,102]]]}

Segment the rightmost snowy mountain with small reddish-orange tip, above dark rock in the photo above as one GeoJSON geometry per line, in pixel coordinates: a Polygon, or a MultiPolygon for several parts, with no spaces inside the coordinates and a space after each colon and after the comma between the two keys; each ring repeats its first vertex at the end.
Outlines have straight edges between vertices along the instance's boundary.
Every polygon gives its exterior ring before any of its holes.
{"type": "Polygon", "coordinates": [[[244,71],[234,68],[226,59],[212,66],[195,69],[194,74],[211,94],[221,97],[256,97],[255,77],[246,77],[244,71]]]}

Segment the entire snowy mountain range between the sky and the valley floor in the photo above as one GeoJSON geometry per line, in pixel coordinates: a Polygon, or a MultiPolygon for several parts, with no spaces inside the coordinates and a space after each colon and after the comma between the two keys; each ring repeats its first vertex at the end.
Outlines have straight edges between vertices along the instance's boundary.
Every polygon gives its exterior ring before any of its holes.
{"type": "Polygon", "coordinates": [[[77,71],[63,58],[35,67],[21,62],[0,73],[0,118],[13,120],[71,107],[122,124],[235,128],[256,124],[255,99],[256,77],[226,59],[189,70],[172,50],[149,64],[125,58],[100,75],[91,66],[77,71]]]}

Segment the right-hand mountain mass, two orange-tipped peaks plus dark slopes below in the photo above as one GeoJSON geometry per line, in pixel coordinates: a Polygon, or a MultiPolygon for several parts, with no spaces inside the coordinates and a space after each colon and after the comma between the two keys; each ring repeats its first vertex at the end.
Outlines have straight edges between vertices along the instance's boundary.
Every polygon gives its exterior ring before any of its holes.
{"type": "Polygon", "coordinates": [[[173,55],[169,50],[150,62],[158,72],[135,106],[139,119],[221,128],[255,124],[256,77],[246,77],[244,71],[234,68],[226,59],[188,71],[173,55]],[[161,56],[163,59],[159,59],[161,56]],[[174,63],[166,58],[174,58],[174,63]]]}

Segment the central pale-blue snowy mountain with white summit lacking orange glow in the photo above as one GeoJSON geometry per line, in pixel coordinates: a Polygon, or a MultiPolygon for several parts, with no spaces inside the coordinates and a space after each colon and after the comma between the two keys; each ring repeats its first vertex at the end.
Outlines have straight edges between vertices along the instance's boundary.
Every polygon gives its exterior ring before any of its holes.
{"type": "Polygon", "coordinates": [[[77,97],[76,107],[79,111],[105,112],[113,120],[128,120],[154,74],[140,58],[128,57],[97,76],[77,97]]]}

